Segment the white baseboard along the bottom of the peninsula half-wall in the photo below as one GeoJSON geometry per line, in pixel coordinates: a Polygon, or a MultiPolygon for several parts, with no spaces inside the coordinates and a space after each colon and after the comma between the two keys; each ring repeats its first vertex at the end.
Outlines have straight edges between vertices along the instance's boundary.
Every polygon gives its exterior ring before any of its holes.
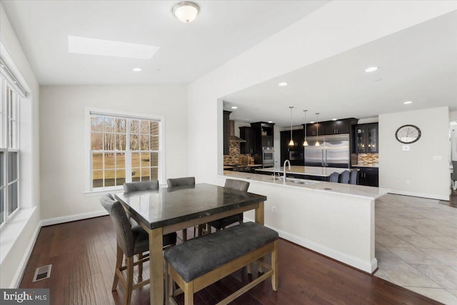
{"type": "MultiPolygon", "coordinates": [[[[248,219],[246,217],[244,219],[246,219],[247,221],[253,221],[253,219],[248,219]]],[[[375,271],[378,267],[378,261],[376,259],[373,259],[373,261],[364,261],[363,259],[359,259],[358,257],[348,255],[336,249],[329,248],[328,246],[323,246],[322,244],[318,244],[315,241],[304,239],[301,236],[290,234],[286,231],[277,229],[273,226],[266,226],[277,231],[282,239],[292,241],[294,244],[304,246],[305,248],[311,249],[320,254],[331,257],[332,259],[336,259],[337,261],[341,261],[344,264],[348,264],[349,266],[353,266],[354,268],[368,272],[369,274],[373,273],[373,271],[375,271]]]]}

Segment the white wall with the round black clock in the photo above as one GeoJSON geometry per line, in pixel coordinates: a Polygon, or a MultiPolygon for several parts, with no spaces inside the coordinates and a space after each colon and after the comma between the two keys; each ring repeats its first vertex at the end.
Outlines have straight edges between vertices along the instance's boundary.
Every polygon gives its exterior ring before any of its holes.
{"type": "Polygon", "coordinates": [[[379,186],[393,193],[449,200],[448,107],[379,116],[379,186]],[[421,138],[409,151],[395,138],[398,127],[412,124],[421,138]],[[441,158],[433,160],[434,156],[441,158]]]}

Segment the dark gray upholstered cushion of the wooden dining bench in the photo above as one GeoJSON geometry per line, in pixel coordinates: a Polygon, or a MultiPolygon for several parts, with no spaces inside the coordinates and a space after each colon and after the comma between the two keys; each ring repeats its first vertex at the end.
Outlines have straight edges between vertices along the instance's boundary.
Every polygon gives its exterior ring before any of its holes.
{"type": "Polygon", "coordinates": [[[166,261],[189,283],[209,271],[278,239],[266,226],[245,222],[165,250],[166,261]]]}

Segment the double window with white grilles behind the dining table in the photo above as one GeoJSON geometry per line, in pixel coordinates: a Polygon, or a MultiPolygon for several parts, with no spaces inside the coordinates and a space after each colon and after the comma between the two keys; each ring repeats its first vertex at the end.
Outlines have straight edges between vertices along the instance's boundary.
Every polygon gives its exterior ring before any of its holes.
{"type": "Polygon", "coordinates": [[[89,111],[89,190],[161,181],[161,118],[89,111]]]}

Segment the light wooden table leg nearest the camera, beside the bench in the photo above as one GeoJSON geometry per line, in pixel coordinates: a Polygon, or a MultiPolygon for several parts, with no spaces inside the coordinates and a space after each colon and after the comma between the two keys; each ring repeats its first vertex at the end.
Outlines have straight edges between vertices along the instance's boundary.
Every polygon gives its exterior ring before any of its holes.
{"type": "Polygon", "coordinates": [[[162,228],[148,230],[149,233],[149,279],[151,305],[164,304],[164,247],[162,228]]]}

